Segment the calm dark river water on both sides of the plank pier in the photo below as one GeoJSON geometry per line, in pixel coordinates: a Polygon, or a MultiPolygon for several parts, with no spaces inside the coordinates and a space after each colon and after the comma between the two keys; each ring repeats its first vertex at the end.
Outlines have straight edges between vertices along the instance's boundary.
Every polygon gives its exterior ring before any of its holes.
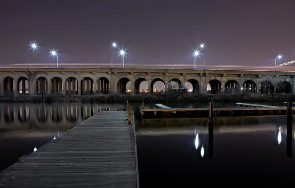
{"type": "MultiPolygon", "coordinates": [[[[134,104],[132,108],[137,112],[139,106],[134,104]]],[[[0,169],[100,110],[126,110],[126,107],[124,104],[1,103],[0,169]]],[[[220,185],[293,182],[295,133],[287,131],[286,117],[216,118],[213,131],[208,129],[205,118],[141,120],[138,113],[135,117],[141,188],[210,185],[210,182],[226,182],[220,185]]]]}

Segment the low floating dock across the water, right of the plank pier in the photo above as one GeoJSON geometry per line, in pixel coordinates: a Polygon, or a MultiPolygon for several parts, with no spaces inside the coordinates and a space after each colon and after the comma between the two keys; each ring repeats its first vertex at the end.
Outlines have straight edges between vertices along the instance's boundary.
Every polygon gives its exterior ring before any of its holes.
{"type": "MultiPolygon", "coordinates": [[[[213,108],[214,116],[268,116],[287,114],[287,108],[285,106],[267,106],[248,103],[237,103],[237,105],[243,107],[213,108]]],[[[140,108],[139,111],[143,119],[209,117],[208,108],[140,108]]]]}

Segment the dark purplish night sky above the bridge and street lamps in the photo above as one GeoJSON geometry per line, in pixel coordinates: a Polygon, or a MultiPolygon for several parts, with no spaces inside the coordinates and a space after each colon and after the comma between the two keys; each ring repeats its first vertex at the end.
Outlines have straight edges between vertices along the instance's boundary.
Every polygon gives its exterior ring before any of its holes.
{"type": "MultiPolygon", "coordinates": [[[[114,40],[126,63],[268,65],[295,59],[295,0],[1,0],[0,63],[110,63],[114,40]],[[200,64],[202,59],[197,60],[200,64]]],[[[120,57],[114,63],[121,63],[120,57]]]]}

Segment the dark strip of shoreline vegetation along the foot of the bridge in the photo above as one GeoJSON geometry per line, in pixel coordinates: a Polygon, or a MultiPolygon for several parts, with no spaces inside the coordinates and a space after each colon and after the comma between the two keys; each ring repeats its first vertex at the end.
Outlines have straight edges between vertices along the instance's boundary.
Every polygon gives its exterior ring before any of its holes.
{"type": "MultiPolygon", "coordinates": [[[[272,102],[295,101],[295,94],[96,94],[96,95],[45,95],[45,103],[82,102],[82,103],[125,103],[145,102],[272,102]]],[[[0,96],[0,102],[43,102],[41,95],[0,96]]]]}

